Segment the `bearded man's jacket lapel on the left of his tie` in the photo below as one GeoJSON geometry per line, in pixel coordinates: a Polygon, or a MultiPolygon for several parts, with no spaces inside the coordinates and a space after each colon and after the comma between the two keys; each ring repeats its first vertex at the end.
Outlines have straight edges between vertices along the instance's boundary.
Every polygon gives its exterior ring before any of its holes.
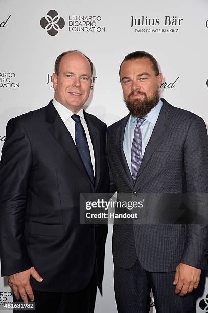
{"type": "Polygon", "coordinates": [[[125,132],[125,127],[128,122],[129,116],[130,116],[130,113],[125,118],[122,119],[121,124],[117,129],[117,133],[115,136],[115,146],[117,147],[116,150],[118,152],[119,159],[127,175],[129,186],[133,188],[133,185],[134,185],[133,178],[131,176],[131,172],[129,170],[129,166],[126,161],[126,157],[125,157],[124,150],[123,150],[124,132],[125,132]]]}

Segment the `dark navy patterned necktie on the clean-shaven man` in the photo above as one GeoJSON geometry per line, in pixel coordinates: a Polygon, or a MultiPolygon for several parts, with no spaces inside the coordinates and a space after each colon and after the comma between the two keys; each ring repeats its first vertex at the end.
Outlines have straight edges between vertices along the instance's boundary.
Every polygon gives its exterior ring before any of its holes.
{"type": "Polygon", "coordinates": [[[86,138],[86,134],[82,123],[80,121],[80,116],[73,114],[71,118],[75,121],[75,142],[77,149],[79,151],[80,157],[84,163],[91,182],[94,184],[94,172],[93,165],[91,164],[89,146],[86,138]]]}

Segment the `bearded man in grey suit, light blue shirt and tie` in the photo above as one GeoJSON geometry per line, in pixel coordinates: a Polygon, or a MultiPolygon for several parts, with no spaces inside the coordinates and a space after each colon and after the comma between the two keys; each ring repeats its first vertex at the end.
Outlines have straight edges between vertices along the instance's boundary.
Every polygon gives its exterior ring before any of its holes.
{"type": "MultiPolygon", "coordinates": [[[[130,113],[108,129],[112,191],[132,194],[132,200],[139,200],[140,193],[207,193],[208,138],[202,118],[159,99],[162,75],[147,52],[124,58],[120,81],[130,113]]],[[[207,250],[206,225],[114,225],[118,312],[148,312],[150,289],[157,313],[192,309],[207,250]]]]}

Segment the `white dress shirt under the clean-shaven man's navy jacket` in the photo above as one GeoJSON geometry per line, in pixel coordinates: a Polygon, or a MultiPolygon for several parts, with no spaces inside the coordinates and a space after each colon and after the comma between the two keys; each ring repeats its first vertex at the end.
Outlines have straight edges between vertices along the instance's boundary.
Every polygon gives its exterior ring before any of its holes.
{"type": "MultiPolygon", "coordinates": [[[[74,143],[75,143],[75,121],[73,119],[71,119],[71,116],[74,113],[72,111],[70,111],[69,109],[67,109],[64,105],[62,105],[58,101],[56,101],[56,99],[53,99],[53,105],[54,105],[55,109],[57,110],[58,114],[60,115],[62,121],[64,122],[66,128],[70,132],[70,135],[72,136],[72,138],[74,140],[74,143]]],[[[94,171],[94,176],[95,176],[95,172],[96,172],[95,155],[94,155],[93,144],[91,142],[91,138],[90,138],[90,135],[89,135],[89,130],[88,130],[88,127],[87,127],[87,123],[86,123],[86,121],[84,119],[83,109],[81,109],[76,114],[80,116],[80,120],[81,120],[82,126],[84,128],[85,133],[86,133],[86,138],[87,138],[87,142],[88,142],[88,146],[89,146],[89,152],[90,152],[90,157],[91,157],[91,163],[93,165],[93,171],[94,171]]]]}

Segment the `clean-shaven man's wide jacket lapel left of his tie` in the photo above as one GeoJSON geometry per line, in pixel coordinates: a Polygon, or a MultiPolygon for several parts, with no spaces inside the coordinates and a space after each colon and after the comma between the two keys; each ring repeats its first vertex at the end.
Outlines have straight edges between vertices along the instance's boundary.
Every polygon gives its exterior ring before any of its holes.
{"type": "Polygon", "coordinates": [[[80,172],[84,175],[84,177],[91,183],[90,178],[82,162],[82,159],[77,150],[77,147],[74,143],[74,140],[72,136],[70,135],[70,133],[68,132],[57,110],[55,109],[52,103],[52,100],[45,107],[45,121],[50,124],[49,131],[52,134],[52,136],[66,151],[66,153],[75,163],[75,165],[78,167],[80,172]]]}

